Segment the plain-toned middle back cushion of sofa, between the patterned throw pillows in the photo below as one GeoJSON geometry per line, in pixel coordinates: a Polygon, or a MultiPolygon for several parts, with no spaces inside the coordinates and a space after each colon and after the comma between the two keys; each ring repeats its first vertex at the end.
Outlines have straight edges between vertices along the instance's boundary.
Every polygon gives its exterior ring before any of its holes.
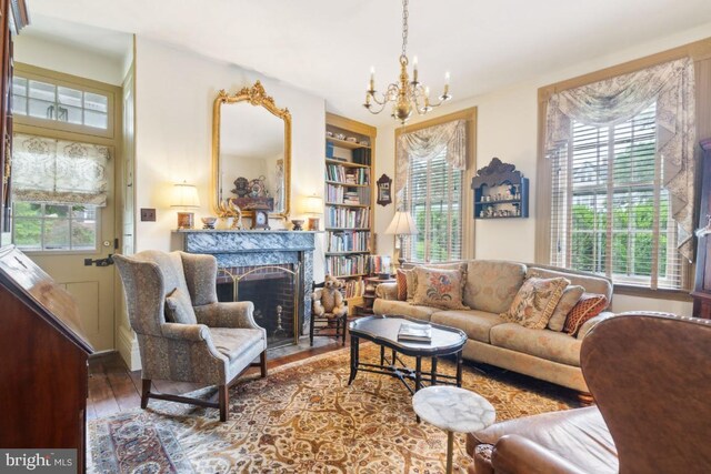
{"type": "Polygon", "coordinates": [[[511,306],[524,276],[522,263],[473,260],[467,265],[463,303],[472,310],[503,313],[511,306]]]}

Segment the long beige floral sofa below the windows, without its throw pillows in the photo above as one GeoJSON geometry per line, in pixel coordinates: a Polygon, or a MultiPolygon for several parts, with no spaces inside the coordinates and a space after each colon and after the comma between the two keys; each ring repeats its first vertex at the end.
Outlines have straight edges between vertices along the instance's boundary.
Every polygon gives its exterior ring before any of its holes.
{"type": "MultiPolygon", "coordinates": [[[[435,266],[429,265],[428,266],[435,266]]],[[[563,385],[583,394],[588,386],[580,370],[582,339],[598,322],[612,315],[612,282],[605,278],[564,269],[517,262],[472,260],[462,262],[465,282],[462,295],[471,310],[441,310],[399,301],[395,283],[377,289],[375,314],[407,315],[458,327],[467,333],[464,359],[483,362],[563,385]],[[534,330],[499,316],[509,310],[527,274],[563,276],[585,292],[605,295],[608,307],[587,321],[577,336],[550,329],[534,330]]]]}

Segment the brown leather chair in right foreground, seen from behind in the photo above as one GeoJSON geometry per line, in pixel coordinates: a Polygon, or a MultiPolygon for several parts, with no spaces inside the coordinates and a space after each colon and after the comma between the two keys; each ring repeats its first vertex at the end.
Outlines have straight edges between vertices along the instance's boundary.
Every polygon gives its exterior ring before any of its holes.
{"type": "Polygon", "coordinates": [[[711,321],[620,314],[580,357],[597,406],[469,434],[470,474],[711,473],[711,321]]]}

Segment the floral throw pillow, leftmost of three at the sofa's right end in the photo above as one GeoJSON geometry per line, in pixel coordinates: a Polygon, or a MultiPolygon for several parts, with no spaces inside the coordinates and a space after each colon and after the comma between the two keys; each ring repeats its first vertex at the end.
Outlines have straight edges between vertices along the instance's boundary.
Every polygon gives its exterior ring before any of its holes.
{"type": "Polygon", "coordinates": [[[523,327],[542,330],[553,315],[555,305],[569,284],[570,281],[563,278],[530,278],[519,289],[509,312],[501,313],[501,317],[523,327]]]}

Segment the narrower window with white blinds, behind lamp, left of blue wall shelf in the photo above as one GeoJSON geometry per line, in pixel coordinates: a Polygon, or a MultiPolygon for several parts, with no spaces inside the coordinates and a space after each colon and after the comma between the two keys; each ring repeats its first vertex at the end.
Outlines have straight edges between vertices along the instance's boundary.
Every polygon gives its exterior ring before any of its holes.
{"type": "Polygon", "coordinates": [[[404,209],[419,234],[405,239],[404,255],[413,262],[447,262],[462,258],[463,171],[445,160],[447,149],[430,160],[410,160],[404,209]]]}

